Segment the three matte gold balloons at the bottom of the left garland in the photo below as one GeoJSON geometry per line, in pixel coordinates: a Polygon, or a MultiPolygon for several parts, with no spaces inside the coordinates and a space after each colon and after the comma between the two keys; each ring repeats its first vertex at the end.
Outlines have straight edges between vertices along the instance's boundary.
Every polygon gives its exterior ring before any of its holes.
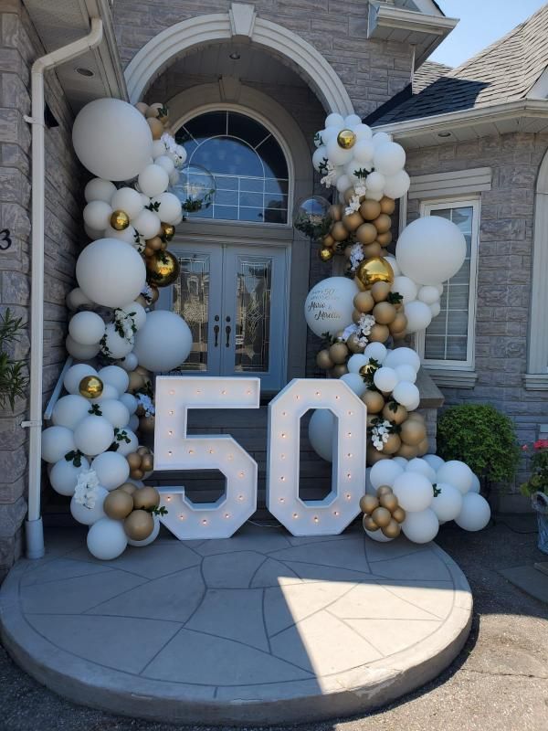
{"type": "Polygon", "coordinates": [[[143,541],[154,530],[153,512],[159,504],[160,493],[155,488],[125,482],[106,496],[103,510],[112,520],[123,520],[129,538],[143,541]]]}

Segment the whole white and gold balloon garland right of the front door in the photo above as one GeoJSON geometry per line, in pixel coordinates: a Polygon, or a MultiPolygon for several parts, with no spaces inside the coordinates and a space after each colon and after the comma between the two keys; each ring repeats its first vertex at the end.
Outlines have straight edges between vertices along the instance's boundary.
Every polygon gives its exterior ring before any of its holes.
{"type": "MultiPolygon", "coordinates": [[[[423,217],[404,228],[389,253],[395,198],[410,183],[403,147],[356,115],[339,114],[326,118],[314,143],[312,164],[321,183],[334,186],[336,199],[301,201],[294,226],[319,242],[322,261],[341,255],[347,264],[345,276],[312,287],[304,313],[324,340],[318,367],[341,378],[368,410],[365,450],[373,492],[361,503],[364,530],[380,541],[401,530],[416,543],[432,540],[448,520],[479,530],[489,522],[489,504],[466,464],[427,454],[427,425],[416,412],[420,358],[402,344],[440,312],[443,282],[462,266],[466,240],[451,221],[423,217]],[[472,486],[478,491],[470,492],[472,486]]],[[[314,412],[309,438],[328,461],[333,429],[329,411],[314,412]]]]}

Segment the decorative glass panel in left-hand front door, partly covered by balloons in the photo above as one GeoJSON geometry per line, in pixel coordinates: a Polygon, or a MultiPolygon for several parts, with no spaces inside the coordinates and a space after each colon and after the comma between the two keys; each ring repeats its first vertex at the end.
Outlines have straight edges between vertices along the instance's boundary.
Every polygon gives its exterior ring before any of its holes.
{"type": "Polygon", "coordinates": [[[174,283],[174,313],[180,314],[192,333],[192,351],[180,371],[207,370],[207,330],[209,326],[208,255],[180,256],[181,275],[174,283]]]}

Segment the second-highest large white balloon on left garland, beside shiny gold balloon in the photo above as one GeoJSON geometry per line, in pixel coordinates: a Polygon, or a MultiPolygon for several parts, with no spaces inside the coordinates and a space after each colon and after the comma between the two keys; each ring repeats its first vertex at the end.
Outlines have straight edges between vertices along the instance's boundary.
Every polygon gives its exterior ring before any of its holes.
{"type": "Polygon", "coordinates": [[[92,302],[121,307],[135,300],[146,281],[140,254],[116,238],[92,241],[79,255],[76,278],[92,302]]]}

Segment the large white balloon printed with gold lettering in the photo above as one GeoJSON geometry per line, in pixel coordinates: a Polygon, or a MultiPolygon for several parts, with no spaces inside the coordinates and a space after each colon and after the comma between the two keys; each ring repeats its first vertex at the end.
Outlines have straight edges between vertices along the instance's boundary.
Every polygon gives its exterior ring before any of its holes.
{"type": "Polygon", "coordinates": [[[357,286],[347,277],[329,277],[312,287],[304,303],[304,316],[312,333],[334,335],[351,324],[357,292],[357,286]]]}

